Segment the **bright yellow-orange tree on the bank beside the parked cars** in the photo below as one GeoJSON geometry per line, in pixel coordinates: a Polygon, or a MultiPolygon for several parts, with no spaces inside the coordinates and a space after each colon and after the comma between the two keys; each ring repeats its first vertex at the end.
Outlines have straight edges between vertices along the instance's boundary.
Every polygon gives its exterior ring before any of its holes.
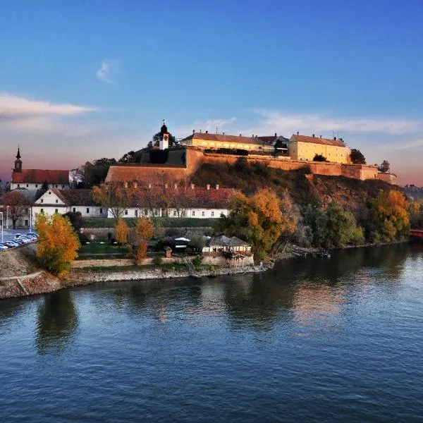
{"type": "Polygon", "coordinates": [[[58,213],[51,217],[40,213],[35,228],[38,233],[36,255],[40,264],[52,274],[63,276],[71,269],[80,247],[71,222],[58,213]]]}

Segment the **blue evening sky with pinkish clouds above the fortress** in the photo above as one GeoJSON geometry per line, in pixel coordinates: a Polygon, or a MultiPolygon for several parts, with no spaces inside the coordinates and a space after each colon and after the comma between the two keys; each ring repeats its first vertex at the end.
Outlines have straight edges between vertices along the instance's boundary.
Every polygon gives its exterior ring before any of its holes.
{"type": "Polygon", "coordinates": [[[0,13],[0,178],[176,137],[339,136],[423,185],[421,0],[13,0],[0,13]]]}

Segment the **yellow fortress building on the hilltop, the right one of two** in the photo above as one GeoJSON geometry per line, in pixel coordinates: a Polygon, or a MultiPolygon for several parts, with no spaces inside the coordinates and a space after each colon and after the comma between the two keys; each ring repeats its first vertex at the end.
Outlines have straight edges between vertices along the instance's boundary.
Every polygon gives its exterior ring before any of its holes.
{"type": "Polygon", "coordinates": [[[315,137],[312,135],[293,135],[288,141],[288,155],[293,160],[312,161],[316,154],[321,154],[333,163],[350,163],[350,149],[342,140],[315,137]]]}

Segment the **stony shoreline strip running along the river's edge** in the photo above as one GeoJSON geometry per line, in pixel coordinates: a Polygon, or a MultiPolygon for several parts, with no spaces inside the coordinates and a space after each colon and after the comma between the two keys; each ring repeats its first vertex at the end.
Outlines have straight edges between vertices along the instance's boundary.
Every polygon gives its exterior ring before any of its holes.
{"type": "MultiPolygon", "coordinates": [[[[348,250],[351,248],[362,247],[381,247],[384,245],[396,245],[407,243],[409,240],[396,241],[393,243],[380,244],[363,244],[363,245],[348,245],[334,250],[348,250]]],[[[321,249],[298,247],[298,245],[291,245],[294,251],[276,254],[270,257],[263,263],[263,266],[245,266],[245,267],[216,267],[214,270],[200,269],[196,274],[201,277],[215,277],[225,275],[239,275],[246,273],[260,273],[272,269],[276,262],[293,258],[305,258],[307,255],[313,255],[321,249]]],[[[136,267],[136,266],[134,266],[136,267]]],[[[91,285],[98,282],[125,282],[125,281],[147,281],[153,279],[174,279],[174,278],[188,278],[195,277],[187,270],[185,271],[171,271],[168,269],[121,269],[113,271],[82,271],[80,269],[73,269],[66,276],[66,278],[59,279],[52,276],[47,271],[38,269],[33,274],[23,276],[10,276],[1,278],[0,281],[0,300],[7,298],[20,298],[29,295],[39,295],[51,293],[56,290],[72,288],[75,286],[91,285]]]]}

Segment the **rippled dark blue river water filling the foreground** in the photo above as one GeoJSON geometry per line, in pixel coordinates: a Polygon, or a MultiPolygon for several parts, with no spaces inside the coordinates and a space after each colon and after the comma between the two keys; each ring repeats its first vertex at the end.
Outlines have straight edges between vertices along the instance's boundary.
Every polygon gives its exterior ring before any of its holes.
{"type": "Polygon", "coordinates": [[[423,245],[0,302],[0,422],[423,421],[423,245]]]}

